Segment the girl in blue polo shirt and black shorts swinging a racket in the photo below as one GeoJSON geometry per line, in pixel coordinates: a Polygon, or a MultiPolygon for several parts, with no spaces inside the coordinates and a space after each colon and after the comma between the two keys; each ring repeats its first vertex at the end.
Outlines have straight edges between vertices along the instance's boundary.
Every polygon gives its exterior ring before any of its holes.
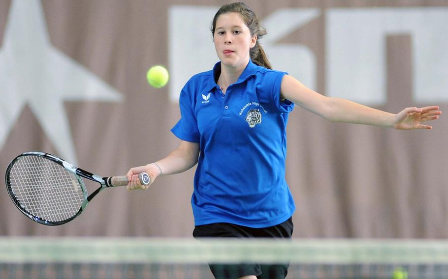
{"type": "MultiPolygon", "coordinates": [[[[212,33],[220,62],[193,76],[180,94],[181,119],[171,130],[180,146],[164,159],[131,168],[129,190],[185,171],[197,163],[192,208],[194,237],[290,238],[295,206],[285,181],[286,125],[294,104],[330,121],[395,129],[431,129],[438,107],[406,108],[392,114],[307,88],[271,69],[259,45],[266,34],[244,3],[222,6],[212,33]]],[[[234,269],[211,265],[217,278],[234,269]]],[[[240,265],[233,278],[285,278],[288,265],[240,265]]]]}

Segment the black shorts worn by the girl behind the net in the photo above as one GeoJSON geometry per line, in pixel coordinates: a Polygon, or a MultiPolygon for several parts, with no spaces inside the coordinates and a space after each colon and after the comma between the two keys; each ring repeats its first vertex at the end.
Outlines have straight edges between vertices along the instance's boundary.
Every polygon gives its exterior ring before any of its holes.
{"type": "MultiPolygon", "coordinates": [[[[195,226],[193,237],[264,237],[290,239],[293,228],[292,218],[278,225],[265,228],[252,228],[231,223],[212,223],[195,226]]],[[[288,274],[289,264],[209,264],[209,266],[216,279],[236,279],[248,275],[255,275],[258,279],[284,279],[288,274]]]]}

